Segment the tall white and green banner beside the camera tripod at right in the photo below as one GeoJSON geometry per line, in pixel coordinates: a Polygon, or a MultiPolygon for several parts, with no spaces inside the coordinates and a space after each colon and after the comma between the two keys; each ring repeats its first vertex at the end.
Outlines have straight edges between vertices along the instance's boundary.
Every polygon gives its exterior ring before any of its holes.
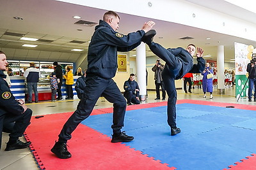
{"type": "Polygon", "coordinates": [[[235,42],[236,98],[248,96],[248,82],[246,83],[246,67],[250,60],[247,57],[247,49],[248,45],[235,42]]]}

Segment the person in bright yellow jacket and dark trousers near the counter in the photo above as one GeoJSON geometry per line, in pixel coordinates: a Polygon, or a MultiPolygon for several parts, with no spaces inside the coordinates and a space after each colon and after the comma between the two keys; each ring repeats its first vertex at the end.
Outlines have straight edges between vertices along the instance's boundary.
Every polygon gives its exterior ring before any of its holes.
{"type": "Polygon", "coordinates": [[[66,68],[66,74],[63,76],[66,79],[67,97],[66,99],[74,99],[72,85],[74,84],[73,73],[70,67],[66,68]]]}

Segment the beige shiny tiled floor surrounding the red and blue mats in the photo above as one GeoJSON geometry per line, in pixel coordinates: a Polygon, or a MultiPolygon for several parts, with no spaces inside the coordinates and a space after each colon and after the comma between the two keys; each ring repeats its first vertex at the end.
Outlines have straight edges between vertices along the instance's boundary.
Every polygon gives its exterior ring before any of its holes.
{"type": "MultiPolygon", "coordinates": [[[[238,103],[238,104],[250,104],[255,105],[256,102],[248,102],[248,99],[243,98],[237,99],[235,96],[235,89],[225,89],[224,95],[217,94],[217,89],[214,89],[214,99],[209,99],[209,93],[207,93],[207,98],[203,98],[204,94],[202,89],[193,89],[192,94],[185,94],[183,90],[177,90],[178,93],[178,100],[180,99],[193,99],[193,100],[200,100],[200,101],[216,101],[221,103],[238,103]]],[[[154,103],[159,102],[155,101],[156,92],[148,92],[148,98],[146,103],[154,103]]],[[[33,110],[33,115],[47,115],[52,113],[64,113],[76,110],[77,103],[79,99],[74,99],[74,101],[58,101],[56,103],[51,102],[40,102],[40,103],[32,103],[28,104],[28,108],[33,110]]],[[[103,97],[97,101],[95,109],[99,108],[109,108],[113,104],[109,103],[103,97]]],[[[60,129],[61,130],[61,129],[60,129]]],[[[0,150],[0,169],[3,170],[33,170],[39,169],[36,165],[35,160],[28,148],[22,150],[12,150],[9,152],[5,152],[4,148],[6,147],[6,142],[8,141],[8,134],[3,133],[3,141],[0,150]]],[[[49,151],[50,152],[50,151],[49,151]]]]}

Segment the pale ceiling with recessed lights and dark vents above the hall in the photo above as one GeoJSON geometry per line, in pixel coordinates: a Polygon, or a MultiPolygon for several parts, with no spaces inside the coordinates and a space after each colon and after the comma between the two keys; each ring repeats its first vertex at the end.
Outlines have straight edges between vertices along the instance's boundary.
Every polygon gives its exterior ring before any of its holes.
{"type": "MultiPolygon", "coordinates": [[[[223,0],[187,1],[256,24],[255,13],[243,10],[223,0]],[[220,4],[216,5],[216,3],[220,4]]],[[[88,41],[90,41],[93,34],[94,25],[90,27],[74,24],[78,20],[72,17],[79,15],[82,17],[81,20],[99,23],[99,19],[102,18],[105,12],[105,10],[54,0],[1,0],[0,49],[7,54],[9,60],[76,62],[81,53],[87,53],[88,41]],[[17,20],[13,17],[22,17],[23,20],[17,20]],[[81,31],[77,31],[77,29],[81,31]],[[4,33],[6,32],[24,34],[24,36],[29,38],[46,39],[52,42],[24,41],[20,40],[19,36],[5,35],[4,33]],[[73,40],[84,41],[84,43],[70,43],[73,40]],[[22,47],[25,43],[36,44],[38,46],[36,48],[22,47]],[[71,49],[74,48],[83,49],[84,51],[72,52],[71,49]]],[[[118,15],[121,18],[120,29],[118,31],[123,34],[141,29],[143,23],[150,20],[150,18],[124,13],[118,13],[118,15]]],[[[256,46],[255,41],[248,39],[228,36],[172,22],[154,21],[156,22],[154,29],[157,31],[154,41],[166,48],[175,48],[177,46],[186,47],[189,43],[194,43],[196,46],[204,48],[205,55],[212,55],[212,57],[205,58],[209,60],[216,60],[218,45],[225,46],[225,62],[230,62],[230,59],[234,59],[234,42],[256,46]],[[186,36],[194,39],[180,39],[186,36]],[[207,40],[205,38],[211,39],[207,40]]],[[[131,52],[131,55],[134,53],[135,50],[131,52]]],[[[150,55],[154,54],[147,48],[147,56],[150,55]]]]}

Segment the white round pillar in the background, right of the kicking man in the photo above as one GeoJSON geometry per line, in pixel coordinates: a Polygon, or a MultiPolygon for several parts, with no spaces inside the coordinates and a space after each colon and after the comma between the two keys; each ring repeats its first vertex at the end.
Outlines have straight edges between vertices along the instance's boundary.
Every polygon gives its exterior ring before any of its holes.
{"type": "Polygon", "coordinates": [[[217,54],[217,75],[218,75],[218,94],[225,94],[224,77],[224,46],[218,46],[217,54]]]}

